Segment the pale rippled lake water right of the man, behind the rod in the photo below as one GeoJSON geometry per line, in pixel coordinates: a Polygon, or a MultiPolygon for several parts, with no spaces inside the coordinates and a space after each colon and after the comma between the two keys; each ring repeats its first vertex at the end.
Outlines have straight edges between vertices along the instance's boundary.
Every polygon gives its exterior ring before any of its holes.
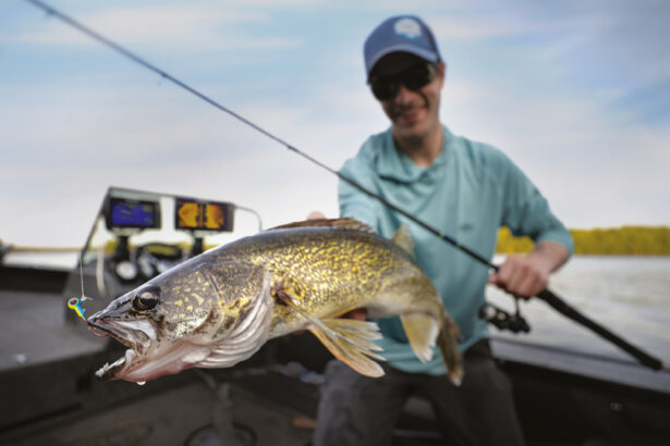
{"type": "MultiPolygon", "coordinates": [[[[613,333],[670,363],[670,257],[575,256],[551,276],[549,289],[613,333]]],[[[487,298],[513,311],[512,299],[491,286],[487,298]]],[[[531,335],[522,335],[528,340],[629,358],[538,299],[521,308],[533,329],[531,335]]]]}

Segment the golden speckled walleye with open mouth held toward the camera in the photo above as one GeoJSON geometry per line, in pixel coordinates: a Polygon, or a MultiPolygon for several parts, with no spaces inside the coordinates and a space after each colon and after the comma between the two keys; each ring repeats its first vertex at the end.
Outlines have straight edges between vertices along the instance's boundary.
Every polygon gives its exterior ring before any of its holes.
{"type": "Polygon", "coordinates": [[[206,251],[88,319],[95,332],[129,347],[96,375],[142,383],[193,367],[231,367],[268,339],[308,330],[336,358],[380,376],[377,324],[339,318],[366,308],[371,318],[400,315],[422,361],[430,360],[437,343],[459,383],[458,327],[412,249],[404,226],[391,241],[355,220],[324,219],[206,251]]]}

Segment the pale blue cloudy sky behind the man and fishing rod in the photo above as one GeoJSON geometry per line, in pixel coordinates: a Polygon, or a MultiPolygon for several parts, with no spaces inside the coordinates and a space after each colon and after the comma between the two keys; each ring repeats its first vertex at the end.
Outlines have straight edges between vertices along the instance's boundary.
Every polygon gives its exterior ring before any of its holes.
{"type": "MultiPolygon", "coordinates": [[[[448,66],[451,132],[504,151],[568,227],[670,225],[667,1],[49,4],[333,169],[389,125],[365,85],[363,41],[417,14],[448,66]]],[[[0,238],[81,246],[109,186],[232,201],[266,227],[338,213],[332,174],[0,0],[0,238]]]]}

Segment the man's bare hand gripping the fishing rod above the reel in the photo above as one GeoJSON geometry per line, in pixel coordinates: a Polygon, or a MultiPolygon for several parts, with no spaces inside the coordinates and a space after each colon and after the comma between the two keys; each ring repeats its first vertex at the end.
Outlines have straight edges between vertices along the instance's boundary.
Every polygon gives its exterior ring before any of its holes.
{"type": "Polygon", "coordinates": [[[549,274],[568,260],[568,249],[556,241],[540,241],[529,255],[508,256],[488,282],[528,299],[547,287],[549,274]]]}

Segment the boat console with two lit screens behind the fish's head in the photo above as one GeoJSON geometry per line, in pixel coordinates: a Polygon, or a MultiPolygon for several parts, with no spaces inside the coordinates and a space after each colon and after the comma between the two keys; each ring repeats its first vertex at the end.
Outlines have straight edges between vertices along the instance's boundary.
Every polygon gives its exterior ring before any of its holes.
{"type": "MultiPolygon", "coordinates": [[[[234,230],[236,209],[230,202],[111,187],[82,249],[82,268],[72,270],[64,295],[90,297],[88,312],[97,311],[222,243],[234,230]]],[[[66,315],[70,323],[76,319],[66,315]]]]}

